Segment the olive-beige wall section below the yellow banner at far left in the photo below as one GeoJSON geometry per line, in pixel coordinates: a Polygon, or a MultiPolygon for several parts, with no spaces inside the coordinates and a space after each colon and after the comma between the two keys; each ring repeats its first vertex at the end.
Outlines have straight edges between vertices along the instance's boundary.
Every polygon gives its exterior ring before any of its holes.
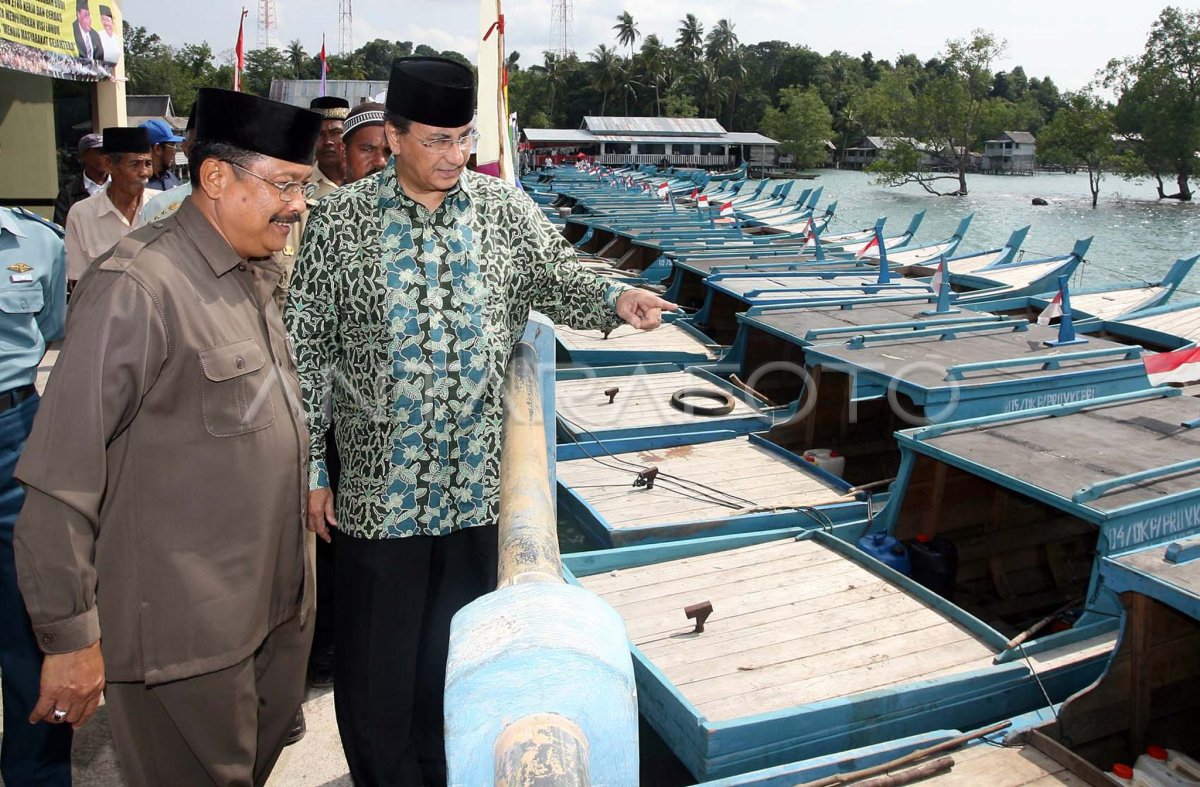
{"type": "Polygon", "coordinates": [[[59,193],[52,88],[49,77],[18,71],[0,79],[0,200],[53,200],[59,193]]]}

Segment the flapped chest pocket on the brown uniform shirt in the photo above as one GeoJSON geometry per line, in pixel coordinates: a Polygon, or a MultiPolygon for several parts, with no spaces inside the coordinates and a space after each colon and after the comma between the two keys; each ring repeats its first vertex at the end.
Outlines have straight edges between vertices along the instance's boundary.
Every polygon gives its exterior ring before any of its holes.
{"type": "Polygon", "coordinates": [[[246,338],[199,353],[204,382],[200,407],[212,437],[236,437],[275,422],[275,377],[257,340],[246,338]]]}

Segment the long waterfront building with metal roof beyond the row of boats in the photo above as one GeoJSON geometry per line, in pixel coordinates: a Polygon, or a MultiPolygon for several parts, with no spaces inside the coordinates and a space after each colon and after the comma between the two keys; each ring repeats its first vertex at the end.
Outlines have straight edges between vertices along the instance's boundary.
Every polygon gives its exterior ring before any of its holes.
{"type": "Polygon", "coordinates": [[[773,167],[779,143],[754,132],[726,131],[712,118],[587,116],[581,128],[522,128],[536,161],[587,154],[610,167],[661,164],[720,169],[749,162],[773,167]]]}

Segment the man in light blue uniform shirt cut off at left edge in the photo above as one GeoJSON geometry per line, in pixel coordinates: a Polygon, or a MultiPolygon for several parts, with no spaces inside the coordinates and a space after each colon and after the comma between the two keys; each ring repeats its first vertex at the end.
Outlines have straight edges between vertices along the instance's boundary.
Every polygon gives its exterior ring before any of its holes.
{"type": "Polygon", "coordinates": [[[62,230],[23,210],[0,208],[0,781],[68,786],[71,727],[29,723],[42,651],[17,587],[12,552],[13,525],[25,499],[12,471],[37,411],[37,365],[66,319],[62,230]]]}

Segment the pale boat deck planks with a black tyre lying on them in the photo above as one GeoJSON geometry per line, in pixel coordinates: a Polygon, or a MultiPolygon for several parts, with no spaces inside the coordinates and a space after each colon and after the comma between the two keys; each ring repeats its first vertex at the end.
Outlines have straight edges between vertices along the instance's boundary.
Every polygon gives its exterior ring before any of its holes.
{"type": "Polygon", "coordinates": [[[671,395],[685,388],[715,386],[688,372],[667,372],[558,380],[554,396],[558,414],[569,423],[590,432],[618,427],[629,429],[694,423],[710,423],[713,428],[720,428],[725,420],[752,417],[758,414],[737,397],[733,397],[733,411],[728,415],[704,416],[683,413],[671,407],[671,395]],[[604,392],[612,388],[619,388],[620,392],[610,404],[604,392]]]}

